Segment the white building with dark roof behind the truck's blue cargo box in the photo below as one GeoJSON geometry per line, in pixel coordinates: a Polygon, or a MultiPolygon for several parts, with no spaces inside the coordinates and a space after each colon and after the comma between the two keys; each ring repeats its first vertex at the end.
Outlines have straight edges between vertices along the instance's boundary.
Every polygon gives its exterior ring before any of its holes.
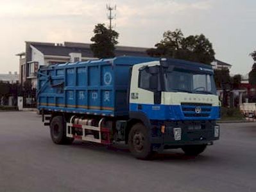
{"type": "MultiPolygon", "coordinates": [[[[37,86],[37,70],[40,66],[53,65],[56,63],[67,63],[76,61],[95,60],[90,44],[64,42],[64,44],[53,44],[44,42],[25,42],[26,51],[16,54],[19,56],[19,68],[21,83],[29,80],[33,87],[37,86]]],[[[116,56],[148,56],[142,47],[117,46],[116,56]]]]}

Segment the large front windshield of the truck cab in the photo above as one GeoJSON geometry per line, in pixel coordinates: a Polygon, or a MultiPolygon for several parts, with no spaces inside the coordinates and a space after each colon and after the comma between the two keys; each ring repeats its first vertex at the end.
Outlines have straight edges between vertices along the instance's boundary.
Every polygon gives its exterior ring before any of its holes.
{"type": "Polygon", "coordinates": [[[166,92],[188,92],[216,95],[214,77],[210,74],[173,70],[164,75],[166,92]]]}

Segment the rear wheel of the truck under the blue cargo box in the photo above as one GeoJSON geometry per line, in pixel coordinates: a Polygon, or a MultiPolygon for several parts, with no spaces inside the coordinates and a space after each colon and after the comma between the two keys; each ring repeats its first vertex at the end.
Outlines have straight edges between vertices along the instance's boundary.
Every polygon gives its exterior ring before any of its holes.
{"type": "Polygon", "coordinates": [[[51,140],[58,145],[72,144],[74,139],[66,137],[66,127],[62,116],[55,116],[50,124],[51,140]]]}

